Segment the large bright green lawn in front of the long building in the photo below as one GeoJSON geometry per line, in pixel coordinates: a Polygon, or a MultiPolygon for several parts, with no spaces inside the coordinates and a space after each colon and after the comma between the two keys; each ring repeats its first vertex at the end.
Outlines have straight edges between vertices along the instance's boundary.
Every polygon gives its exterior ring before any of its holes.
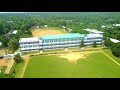
{"type": "Polygon", "coordinates": [[[33,56],[24,78],[120,78],[120,66],[101,52],[77,63],[57,56],[33,56]]]}

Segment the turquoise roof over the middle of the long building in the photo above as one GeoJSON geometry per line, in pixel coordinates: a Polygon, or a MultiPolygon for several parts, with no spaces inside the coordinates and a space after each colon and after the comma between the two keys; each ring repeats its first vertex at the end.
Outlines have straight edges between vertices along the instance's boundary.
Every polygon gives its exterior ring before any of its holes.
{"type": "Polygon", "coordinates": [[[84,38],[84,34],[70,33],[70,34],[53,34],[40,37],[42,39],[63,39],[63,38],[84,38]]]}

